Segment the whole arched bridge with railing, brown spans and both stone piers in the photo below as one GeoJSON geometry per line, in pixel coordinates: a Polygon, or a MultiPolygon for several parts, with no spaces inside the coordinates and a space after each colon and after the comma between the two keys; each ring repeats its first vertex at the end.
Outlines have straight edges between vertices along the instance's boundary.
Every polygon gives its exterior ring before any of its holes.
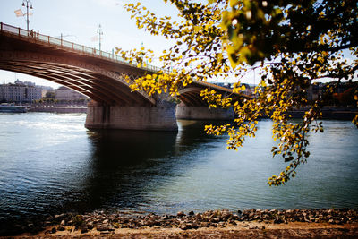
{"type": "MultiPolygon", "coordinates": [[[[134,81],[147,73],[157,73],[161,70],[158,67],[137,67],[119,55],[0,22],[0,69],[54,81],[90,97],[87,128],[177,130],[174,103],[163,95],[149,97],[144,91],[132,91],[126,81],[126,77],[134,81]]],[[[205,88],[232,93],[195,81],[179,91],[182,103],[176,107],[176,116],[233,118],[232,110],[210,109],[201,100],[200,90],[205,88]]]]}

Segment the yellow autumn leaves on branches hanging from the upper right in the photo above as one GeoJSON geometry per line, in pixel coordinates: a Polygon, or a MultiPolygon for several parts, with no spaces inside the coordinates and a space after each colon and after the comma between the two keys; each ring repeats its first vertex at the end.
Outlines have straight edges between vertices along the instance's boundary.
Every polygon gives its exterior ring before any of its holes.
{"type": "MultiPolygon", "coordinates": [[[[176,44],[159,56],[162,71],[132,81],[132,90],[172,96],[192,81],[235,79],[233,91],[244,90],[241,80],[255,70],[260,84],[255,98],[218,97],[203,90],[201,97],[211,107],[233,107],[234,125],[208,125],[205,131],[227,133],[228,149],[238,149],[245,137],[254,137],[260,116],[273,121],[272,137],[286,168],[268,179],[269,185],[285,184],[296,168],[310,156],[310,132],[323,132],[321,98],[309,102],[307,90],[313,81],[354,80],[358,68],[358,4],[356,1],[249,1],[249,0],[164,0],[178,10],[180,21],[158,17],[141,3],[126,4],[139,29],[174,39],[176,44]],[[354,76],[355,74],[355,76],[354,76]],[[287,113],[308,107],[299,123],[290,122],[287,113]]],[[[142,47],[125,52],[139,66],[151,62],[154,54],[142,47]]],[[[158,57],[158,55],[156,55],[158,57]]],[[[325,90],[332,94],[335,86],[325,90]]],[[[354,92],[355,100],[357,92],[354,92]]],[[[357,124],[358,118],[354,119],[357,124]]]]}

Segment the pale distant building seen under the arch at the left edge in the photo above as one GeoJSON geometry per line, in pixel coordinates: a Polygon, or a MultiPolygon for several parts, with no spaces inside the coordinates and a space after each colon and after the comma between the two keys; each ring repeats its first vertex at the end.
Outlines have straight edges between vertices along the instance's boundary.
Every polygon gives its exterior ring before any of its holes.
{"type": "Polygon", "coordinates": [[[42,89],[29,84],[31,82],[15,81],[0,85],[0,100],[7,102],[32,102],[42,97],[42,89]]]}

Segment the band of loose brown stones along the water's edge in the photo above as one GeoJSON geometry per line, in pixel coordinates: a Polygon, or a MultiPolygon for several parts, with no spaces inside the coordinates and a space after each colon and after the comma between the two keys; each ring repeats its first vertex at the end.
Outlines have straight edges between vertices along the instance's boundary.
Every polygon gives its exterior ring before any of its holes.
{"type": "MultiPolygon", "coordinates": [[[[52,228],[48,233],[55,231],[64,231],[64,226],[76,226],[76,214],[59,214],[54,217],[48,217],[45,221],[22,221],[20,225],[23,232],[37,232],[43,230],[45,226],[58,225],[52,228]]],[[[200,227],[226,227],[237,225],[237,221],[249,222],[258,221],[266,224],[281,224],[288,222],[310,222],[310,223],[330,223],[330,224],[349,224],[358,222],[358,211],[356,209],[247,209],[237,210],[237,214],[230,210],[209,210],[202,213],[189,211],[186,215],[179,211],[176,215],[158,216],[153,213],[149,215],[131,216],[128,214],[120,215],[118,213],[106,214],[103,211],[94,211],[77,216],[82,218],[83,223],[76,229],[82,233],[96,228],[101,234],[109,234],[115,228],[141,228],[141,227],[163,227],[180,228],[182,230],[197,229],[200,227]]],[[[16,225],[16,224],[13,224],[16,225]]],[[[248,227],[246,224],[244,227],[248,227]]],[[[251,226],[252,228],[254,226],[251,226]]],[[[254,229],[258,229],[255,227],[254,229]]],[[[262,226],[265,229],[265,226],[262,226]]],[[[13,230],[16,231],[16,230],[13,230]]]]}

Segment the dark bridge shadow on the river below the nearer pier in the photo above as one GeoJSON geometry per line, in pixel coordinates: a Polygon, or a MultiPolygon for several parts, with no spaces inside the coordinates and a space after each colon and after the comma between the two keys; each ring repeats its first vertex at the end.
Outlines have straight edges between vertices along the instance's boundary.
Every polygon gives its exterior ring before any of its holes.
{"type": "Polygon", "coordinates": [[[152,193],[195,162],[184,156],[206,141],[218,140],[202,128],[203,124],[188,121],[179,132],[88,132],[93,147],[90,176],[75,209],[153,211],[151,203],[160,203],[162,195],[152,193]]]}

